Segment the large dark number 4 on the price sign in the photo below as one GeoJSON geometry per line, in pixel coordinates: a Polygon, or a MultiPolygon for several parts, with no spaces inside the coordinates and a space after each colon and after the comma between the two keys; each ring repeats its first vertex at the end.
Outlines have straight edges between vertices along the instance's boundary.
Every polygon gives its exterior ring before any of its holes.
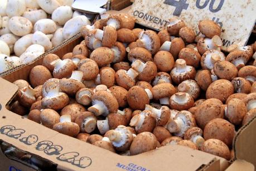
{"type": "Polygon", "coordinates": [[[180,0],[180,1],[165,0],[165,2],[163,3],[176,7],[175,11],[173,12],[173,16],[180,16],[182,10],[187,9],[189,7],[189,4],[186,2],[187,0],[180,0]]]}

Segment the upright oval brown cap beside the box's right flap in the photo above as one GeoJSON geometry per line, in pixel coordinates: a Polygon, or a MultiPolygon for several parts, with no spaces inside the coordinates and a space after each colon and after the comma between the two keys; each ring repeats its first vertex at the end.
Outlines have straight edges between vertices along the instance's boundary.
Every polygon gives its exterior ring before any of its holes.
{"type": "Polygon", "coordinates": [[[244,102],[240,99],[231,99],[226,107],[225,116],[228,120],[235,125],[240,125],[243,121],[247,108],[244,102]]]}

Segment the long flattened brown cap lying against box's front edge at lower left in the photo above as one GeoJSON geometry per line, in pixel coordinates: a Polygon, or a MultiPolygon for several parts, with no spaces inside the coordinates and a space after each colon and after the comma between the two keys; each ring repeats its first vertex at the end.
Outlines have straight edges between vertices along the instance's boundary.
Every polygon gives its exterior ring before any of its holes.
{"type": "Polygon", "coordinates": [[[79,133],[79,126],[76,123],[67,122],[64,123],[57,123],[52,128],[55,131],[58,131],[61,134],[69,135],[69,136],[76,136],[79,133]]]}

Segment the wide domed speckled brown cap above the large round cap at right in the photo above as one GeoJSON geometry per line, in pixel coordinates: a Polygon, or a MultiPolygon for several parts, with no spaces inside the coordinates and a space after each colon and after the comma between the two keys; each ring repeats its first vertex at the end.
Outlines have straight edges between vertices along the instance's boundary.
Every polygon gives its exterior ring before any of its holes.
{"type": "Polygon", "coordinates": [[[234,86],[230,81],[220,79],[212,82],[206,90],[206,99],[216,98],[223,103],[228,97],[234,94],[234,86]]]}

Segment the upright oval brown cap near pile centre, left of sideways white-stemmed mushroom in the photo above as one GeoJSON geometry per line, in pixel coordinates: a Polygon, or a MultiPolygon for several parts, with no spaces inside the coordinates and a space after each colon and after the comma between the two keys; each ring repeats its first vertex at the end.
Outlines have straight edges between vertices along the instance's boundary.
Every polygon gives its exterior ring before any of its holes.
{"type": "Polygon", "coordinates": [[[100,84],[111,87],[115,84],[115,70],[112,67],[102,67],[99,71],[100,84]]]}

